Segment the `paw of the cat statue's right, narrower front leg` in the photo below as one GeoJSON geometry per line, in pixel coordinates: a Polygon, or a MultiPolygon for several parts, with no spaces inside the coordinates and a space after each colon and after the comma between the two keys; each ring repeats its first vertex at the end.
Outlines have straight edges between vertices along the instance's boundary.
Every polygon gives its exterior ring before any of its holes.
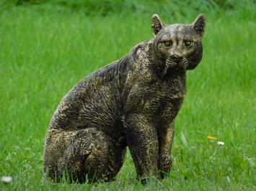
{"type": "Polygon", "coordinates": [[[172,157],[169,153],[164,153],[161,155],[161,157],[159,157],[158,167],[162,178],[169,174],[169,171],[172,167],[172,157]]]}

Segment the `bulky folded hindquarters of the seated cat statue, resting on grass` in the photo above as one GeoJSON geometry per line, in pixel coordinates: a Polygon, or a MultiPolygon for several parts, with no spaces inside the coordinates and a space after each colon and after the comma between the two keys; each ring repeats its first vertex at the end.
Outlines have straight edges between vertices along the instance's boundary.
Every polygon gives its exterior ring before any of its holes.
{"type": "Polygon", "coordinates": [[[123,164],[125,149],[96,129],[50,130],[45,142],[44,171],[52,180],[111,180],[123,164]]]}

